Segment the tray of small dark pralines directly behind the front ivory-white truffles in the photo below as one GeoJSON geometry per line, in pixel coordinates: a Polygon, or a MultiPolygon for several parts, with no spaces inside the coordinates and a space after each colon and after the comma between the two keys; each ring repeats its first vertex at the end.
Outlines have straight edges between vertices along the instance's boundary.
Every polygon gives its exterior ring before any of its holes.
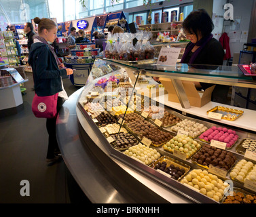
{"type": "Polygon", "coordinates": [[[113,145],[114,149],[117,149],[118,151],[124,151],[128,149],[130,146],[134,146],[139,143],[138,140],[132,135],[132,134],[115,134],[111,135],[113,138],[113,142],[111,144],[113,145]]]}

